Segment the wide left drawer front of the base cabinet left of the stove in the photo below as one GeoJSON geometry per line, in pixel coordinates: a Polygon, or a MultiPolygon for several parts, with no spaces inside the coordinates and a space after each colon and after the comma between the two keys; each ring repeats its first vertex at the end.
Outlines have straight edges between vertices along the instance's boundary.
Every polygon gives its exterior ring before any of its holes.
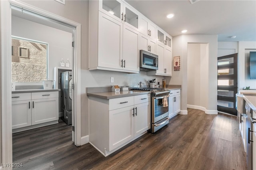
{"type": "Polygon", "coordinates": [[[115,99],[109,99],[109,110],[120,109],[134,105],[134,97],[120,97],[115,99]]]}

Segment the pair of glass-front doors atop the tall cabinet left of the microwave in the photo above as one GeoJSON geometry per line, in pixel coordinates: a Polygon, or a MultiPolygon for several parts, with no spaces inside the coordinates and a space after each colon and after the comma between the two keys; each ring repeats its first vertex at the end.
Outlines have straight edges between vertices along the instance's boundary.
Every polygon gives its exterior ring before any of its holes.
{"type": "Polygon", "coordinates": [[[138,30],[138,12],[120,0],[99,0],[99,11],[138,30]]]}

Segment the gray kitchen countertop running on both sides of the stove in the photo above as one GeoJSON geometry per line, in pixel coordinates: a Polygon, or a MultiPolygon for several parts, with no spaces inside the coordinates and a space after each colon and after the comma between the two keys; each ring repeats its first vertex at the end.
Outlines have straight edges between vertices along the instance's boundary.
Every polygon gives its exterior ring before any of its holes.
{"type": "MultiPolygon", "coordinates": [[[[88,88],[95,88],[95,87],[88,87],[88,88]]],[[[96,88],[97,88],[96,91],[97,90],[100,91],[102,89],[102,87],[100,87],[99,89],[98,89],[98,87],[96,87],[96,88]]],[[[168,87],[166,89],[178,90],[181,88],[180,87],[168,87]]],[[[102,99],[114,99],[114,98],[119,98],[119,97],[128,97],[128,96],[144,95],[144,94],[151,93],[150,91],[129,90],[129,91],[120,91],[120,94],[116,94],[115,92],[112,92],[112,91],[104,92],[104,90],[102,90],[100,92],[95,92],[94,90],[91,91],[88,89],[87,95],[102,98],[102,99]]]]}

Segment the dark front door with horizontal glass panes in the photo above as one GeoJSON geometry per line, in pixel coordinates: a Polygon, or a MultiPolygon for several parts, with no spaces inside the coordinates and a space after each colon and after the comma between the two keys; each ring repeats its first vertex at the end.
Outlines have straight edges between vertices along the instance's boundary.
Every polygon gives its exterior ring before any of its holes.
{"type": "Polygon", "coordinates": [[[218,57],[217,110],[234,116],[237,116],[237,56],[238,53],[218,57]]]}

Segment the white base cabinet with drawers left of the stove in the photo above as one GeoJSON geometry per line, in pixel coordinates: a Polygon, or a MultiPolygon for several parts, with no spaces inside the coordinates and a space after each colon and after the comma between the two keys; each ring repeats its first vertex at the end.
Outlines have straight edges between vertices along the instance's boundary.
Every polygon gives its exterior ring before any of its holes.
{"type": "Polygon", "coordinates": [[[89,142],[104,156],[150,128],[150,94],[115,99],[89,97],[89,142]]]}

